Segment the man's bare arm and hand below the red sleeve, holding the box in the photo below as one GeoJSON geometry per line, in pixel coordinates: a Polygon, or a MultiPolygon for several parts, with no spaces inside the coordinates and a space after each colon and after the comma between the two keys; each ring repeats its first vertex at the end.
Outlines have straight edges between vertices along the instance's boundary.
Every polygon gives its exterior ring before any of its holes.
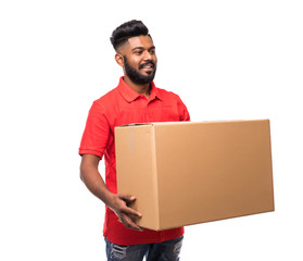
{"type": "Polygon", "coordinates": [[[119,221],[127,227],[135,231],[142,231],[132,222],[134,216],[141,217],[141,214],[127,207],[134,202],[134,196],[125,194],[113,194],[106,187],[98,171],[100,158],[93,154],[84,154],[80,164],[80,178],[87,188],[101,199],[111,210],[115,212],[119,221]]]}

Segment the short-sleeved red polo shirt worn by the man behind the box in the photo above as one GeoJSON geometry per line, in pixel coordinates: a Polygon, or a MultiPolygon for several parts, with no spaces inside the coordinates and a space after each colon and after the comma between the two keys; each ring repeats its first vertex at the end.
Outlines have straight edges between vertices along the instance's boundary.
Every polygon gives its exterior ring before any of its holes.
{"type": "MultiPolygon", "coordinates": [[[[94,154],[100,158],[104,156],[105,183],[109,189],[116,194],[114,128],[130,123],[189,120],[187,108],[177,95],[156,88],[152,83],[150,96],[147,98],[132,90],[121,77],[115,89],[93,102],[87,119],[79,154],[94,154]]],[[[103,235],[114,244],[160,243],[177,238],[182,234],[182,227],[161,232],[128,229],[118,222],[116,214],[106,207],[103,235]]]]}

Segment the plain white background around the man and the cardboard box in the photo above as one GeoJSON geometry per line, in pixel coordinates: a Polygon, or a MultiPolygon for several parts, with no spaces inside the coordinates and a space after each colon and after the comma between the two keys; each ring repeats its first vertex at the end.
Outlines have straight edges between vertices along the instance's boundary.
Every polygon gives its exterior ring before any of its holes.
{"type": "Polygon", "coordinates": [[[301,3],[1,1],[0,260],[105,260],[103,203],[77,150],[122,75],[111,33],[131,18],[154,39],[156,85],[192,121],[272,123],[276,211],[187,227],[181,260],[303,260],[301,3]]]}

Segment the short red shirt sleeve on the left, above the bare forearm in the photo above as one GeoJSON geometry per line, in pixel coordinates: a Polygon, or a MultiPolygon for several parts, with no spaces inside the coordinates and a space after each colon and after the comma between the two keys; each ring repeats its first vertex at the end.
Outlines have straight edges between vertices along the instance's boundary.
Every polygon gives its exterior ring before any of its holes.
{"type": "Polygon", "coordinates": [[[110,137],[110,124],[102,103],[94,101],[91,105],[83,134],[79,154],[103,157],[110,137]]]}

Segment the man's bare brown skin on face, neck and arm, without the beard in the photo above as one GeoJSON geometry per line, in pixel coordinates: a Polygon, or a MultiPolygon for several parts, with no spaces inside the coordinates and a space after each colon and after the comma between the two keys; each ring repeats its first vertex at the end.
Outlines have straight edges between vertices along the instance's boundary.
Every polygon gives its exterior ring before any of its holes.
{"type": "MultiPolygon", "coordinates": [[[[124,71],[124,80],[126,84],[136,90],[138,94],[149,97],[150,84],[138,85],[126,75],[124,66],[124,57],[126,55],[128,63],[143,75],[149,75],[155,67],[139,69],[140,64],[153,61],[156,65],[156,55],[153,41],[149,36],[131,37],[128,41],[121,46],[115,54],[115,60],[124,71]]],[[[141,217],[141,213],[132,210],[128,206],[132,203],[136,198],[126,194],[113,194],[106,187],[101,174],[99,173],[98,165],[100,158],[93,154],[84,154],[80,163],[80,178],[87,188],[100,200],[102,200],[111,210],[115,212],[118,220],[125,227],[142,231],[135,222],[135,217],[141,217]]]]}

